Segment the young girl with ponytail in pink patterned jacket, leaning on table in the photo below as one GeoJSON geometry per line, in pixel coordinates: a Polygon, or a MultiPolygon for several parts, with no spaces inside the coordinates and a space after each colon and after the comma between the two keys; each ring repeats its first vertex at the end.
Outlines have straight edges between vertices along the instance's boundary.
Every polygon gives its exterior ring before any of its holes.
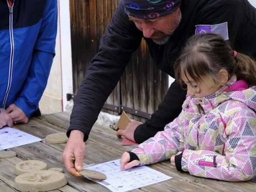
{"type": "Polygon", "coordinates": [[[181,114],[121,158],[121,169],[171,158],[179,171],[225,181],[256,176],[256,63],[214,34],[189,39],[175,64],[181,114]],[[180,151],[180,152],[179,152],[180,151]]]}

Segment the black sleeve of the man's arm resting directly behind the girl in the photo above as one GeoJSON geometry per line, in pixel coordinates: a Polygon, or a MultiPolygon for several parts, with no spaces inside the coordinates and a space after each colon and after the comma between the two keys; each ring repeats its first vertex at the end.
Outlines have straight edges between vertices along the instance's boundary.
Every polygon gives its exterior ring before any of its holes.
{"type": "Polygon", "coordinates": [[[180,114],[185,96],[186,91],[180,87],[177,81],[174,81],[156,112],[144,124],[136,128],[134,132],[135,141],[140,144],[154,136],[158,131],[163,131],[165,125],[180,114]]]}

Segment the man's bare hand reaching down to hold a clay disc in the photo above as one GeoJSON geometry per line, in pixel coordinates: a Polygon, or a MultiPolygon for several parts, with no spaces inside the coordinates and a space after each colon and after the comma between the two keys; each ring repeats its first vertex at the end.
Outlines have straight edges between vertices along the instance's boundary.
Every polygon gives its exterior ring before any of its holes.
{"type": "Polygon", "coordinates": [[[72,130],[70,138],[62,154],[62,161],[69,173],[73,176],[81,176],[77,171],[83,169],[83,155],[85,154],[85,134],[80,130],[72,130]]]}

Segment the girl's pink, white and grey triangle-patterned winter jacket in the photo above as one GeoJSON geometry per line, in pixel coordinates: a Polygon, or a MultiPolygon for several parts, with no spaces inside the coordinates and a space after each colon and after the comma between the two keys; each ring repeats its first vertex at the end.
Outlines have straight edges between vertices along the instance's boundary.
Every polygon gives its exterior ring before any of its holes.
{"type": "Polygon", "coordinates": [[[229,87],[204,98],[187,96],[181,114],[164,131],[137,146],[140,165],[183,151],[191,175],[226,181],[256,176],[256,86],[233,77],[229,87]],[[234,83],[235,82],[235,83],[234,83]]]}

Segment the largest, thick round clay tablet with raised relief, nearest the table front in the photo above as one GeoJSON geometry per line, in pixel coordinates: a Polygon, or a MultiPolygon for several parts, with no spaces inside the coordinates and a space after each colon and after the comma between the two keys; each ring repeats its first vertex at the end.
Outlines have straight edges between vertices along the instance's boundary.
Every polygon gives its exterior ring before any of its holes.
{"type": "Polygon", "coordinates": [[[50,191],[67,184],[63,173],[50,170],[33,171],[17,176],[14,188],[20,191],[50,191]]]}

